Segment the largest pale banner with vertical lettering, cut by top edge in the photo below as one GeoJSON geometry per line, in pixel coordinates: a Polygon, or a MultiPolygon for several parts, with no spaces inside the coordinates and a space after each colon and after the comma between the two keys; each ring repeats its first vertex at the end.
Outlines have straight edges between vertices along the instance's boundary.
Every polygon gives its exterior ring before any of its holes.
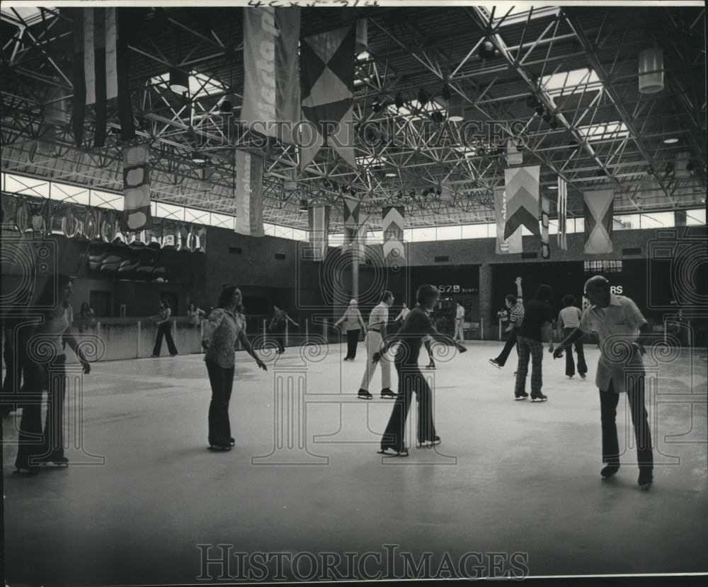
{"type": "Polygon", "coordinates": [[[244,8],[244,100],[241,122],[292,143],[300,120],[300,9],[244,8]]]}

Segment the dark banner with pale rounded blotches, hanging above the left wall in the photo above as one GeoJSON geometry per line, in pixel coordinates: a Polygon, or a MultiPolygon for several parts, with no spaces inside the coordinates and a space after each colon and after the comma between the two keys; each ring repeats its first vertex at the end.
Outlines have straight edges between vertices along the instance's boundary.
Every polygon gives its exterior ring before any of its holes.
{"type": "Polygon", "coordinates": [[[123,231],[140,231],[152,226],[149,156],[147,143],[123,148],[123,231]]]}

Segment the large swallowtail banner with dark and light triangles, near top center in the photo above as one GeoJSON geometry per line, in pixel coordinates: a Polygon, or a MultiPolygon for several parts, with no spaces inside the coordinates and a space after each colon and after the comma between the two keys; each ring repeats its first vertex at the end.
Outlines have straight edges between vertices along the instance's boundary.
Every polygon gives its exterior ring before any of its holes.
{"type": "Polygon", "coordinates": [[[304,37],[300,41],[302,120],[300,169],[324,144],[352,167],[354,158],[354,47],[356,26],[304,37]]]}

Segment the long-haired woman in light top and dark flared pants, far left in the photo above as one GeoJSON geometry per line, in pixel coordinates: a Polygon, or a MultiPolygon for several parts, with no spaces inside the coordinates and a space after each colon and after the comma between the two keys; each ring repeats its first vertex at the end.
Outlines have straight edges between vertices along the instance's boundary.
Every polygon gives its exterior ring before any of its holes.
{"type": "MultiPolygon", "coordinates": [[[[23,405],[15,460],[18,475],[36,475],[38,465],[69,465],[64,456],[64,395],[67,387],[64,343],[69,344],[79,357],[84,373],[91,372],[91,365],[69,330],[74,321],[69,303],[73,288],[72,279],[67,275],[50,278],[34,304],[35,308],[43,310],[40,322],[35,321],[32,325],[25,322],[19,332],[23,388],[39,397],[47,391],[47,418],[42,431],[41,403],[33,401],[23,405]]],[[[28,322],[32,318],[28,315],[28,322]]]]}

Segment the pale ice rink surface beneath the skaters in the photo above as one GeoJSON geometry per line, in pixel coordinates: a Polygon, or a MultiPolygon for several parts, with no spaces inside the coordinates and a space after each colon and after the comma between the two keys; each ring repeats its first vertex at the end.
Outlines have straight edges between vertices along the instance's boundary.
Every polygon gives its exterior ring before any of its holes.
{"type": "Polygon", "coordinates": [[[94,364],[69,385],[68,469],[14,475],[18,414],[4,419],[7,583],[707,571],[706,351],[645,357],[655,469],[642,492],[624,400],[622,468],[600,479],[598,349],[587,380],[545,353],[548,401],[532,403],[513,399],[515,354],[487,362],[501,344],[423,370],[442,443],[416,449],[413,402],[408,458],[377,454],[394,402],[378,370],[374,399],[355,397],[362,344],[354,362],[344,345],[289,347],[268,372],[236,354],[227,453],[207,450],[201,355],[94,364]]]}

